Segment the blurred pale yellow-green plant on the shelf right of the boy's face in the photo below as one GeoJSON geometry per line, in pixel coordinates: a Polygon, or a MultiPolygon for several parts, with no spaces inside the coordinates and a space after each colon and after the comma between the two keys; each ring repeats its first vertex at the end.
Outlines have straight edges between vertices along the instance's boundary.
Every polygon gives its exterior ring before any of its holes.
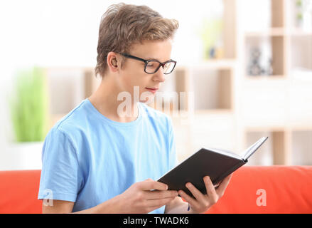
{"type": "Polygon", "coordinates": [[[215,48],[222,42],[222,19],[204,19],[200,29],[200,36],[204,46],[204,58],[210,58],[211,48],[215,48]]]}

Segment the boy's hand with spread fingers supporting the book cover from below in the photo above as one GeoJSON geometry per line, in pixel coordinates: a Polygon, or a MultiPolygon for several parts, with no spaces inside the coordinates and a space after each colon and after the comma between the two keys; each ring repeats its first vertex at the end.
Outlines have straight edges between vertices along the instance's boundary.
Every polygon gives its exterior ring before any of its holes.
{"type": "Polygon", "coordinates": [[[206,212],[223,196],[231,177],[232,175],[225,177],[217,189],[215,189],[213,182],[210,180],[210,177],[205,176],[203,180],[207,190],[206,195],[203,195],[203,193],[200,192],[200,190],[198,190],[191,183],[186,183],[185,186],[188,188],[188,190],[190,190],[195,199],[187,195],[183,190],[179,190],[178,193],[181,195],[181,197],[183,197],[183,199],[185,199],[186,202],[188,202],[188,204],[190,204],[190,208],[192,209],[193,213],[203,213],[206,212]]]}

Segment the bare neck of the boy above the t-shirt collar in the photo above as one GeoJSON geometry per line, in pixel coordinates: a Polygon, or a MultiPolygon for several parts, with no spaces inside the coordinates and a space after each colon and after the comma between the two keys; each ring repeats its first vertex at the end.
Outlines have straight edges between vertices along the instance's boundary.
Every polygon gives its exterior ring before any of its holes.
{"type": "Polygon", "coordinates": [[[113,81],[104,80],[103,78],[99,88],[89,97],[89,100],[99,113],[106,118],[120,123],[128,123],[138,118],[138,104],[133,102],[133,98],[131,98],[131,104],[127,105],[127,108],[131,107],[131,110],[127,110],[127,115],[122,116],[123,113],[120,113],[120,107],[124,107],[124,105],[121,105],[124,100],[117,100],[118,94],[122,92],[113,81]]]}

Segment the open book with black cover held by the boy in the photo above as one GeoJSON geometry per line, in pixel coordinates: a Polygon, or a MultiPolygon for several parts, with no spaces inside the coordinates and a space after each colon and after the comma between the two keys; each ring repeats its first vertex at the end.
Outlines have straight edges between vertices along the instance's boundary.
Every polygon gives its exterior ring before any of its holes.
{"type": "Polygon", "coordinates": [[[251,145],[242,155],[226,150],[202,148],[185,159],[179,165],[169,170],[159,178],[158,182],[168,185],[168,190],[183,190],[192,196],[185,187],[191,182],[200,192],[206,194],[203,177],[209,176],[213,185],[219,184],[225,177],[248,162],[250,156],[267,140],[268,137],[260,138],[251,145]]]}

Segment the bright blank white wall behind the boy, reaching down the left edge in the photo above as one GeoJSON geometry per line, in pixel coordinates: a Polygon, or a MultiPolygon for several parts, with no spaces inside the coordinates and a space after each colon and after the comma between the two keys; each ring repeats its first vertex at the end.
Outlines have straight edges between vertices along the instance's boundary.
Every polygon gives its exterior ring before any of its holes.
{"type": "MultiPolygon", "coordinates": [[[[14,90],[11,85],[14,70],[34,65],[94,67],[99,21],[110,4],[119,2],[0,1],[0,170],[31,167],[29,162],[24,166],[18,162],[21,156],[14,155],[14,151],[19,149],[11,145],[14,135],[7,101],[9,93],[14,90]]],[[[177,0],[124,2],[146,4],[165,17],[178,19],[180,28],[176,33],[171,57],[180,64],[200,60],[200,20],[222,12],[221,0],[195,1],[191,4],[189,1],[177,0]]],[[[33,148],[31,150],[39,150],[37,145],[33,148]]]]}

